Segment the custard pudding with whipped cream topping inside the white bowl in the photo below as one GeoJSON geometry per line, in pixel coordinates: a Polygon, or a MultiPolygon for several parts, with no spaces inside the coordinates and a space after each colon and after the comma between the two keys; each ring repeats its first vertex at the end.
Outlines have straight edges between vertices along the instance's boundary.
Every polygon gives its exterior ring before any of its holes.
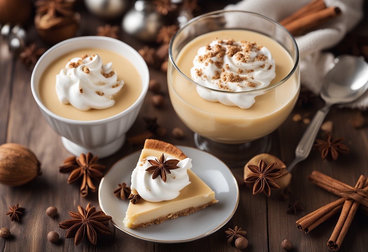
{"type": "Polygon", "coordinates": [[[39,95],[51,112],[74,120],[109,118],[142,92],[138,70],[116,52],[78,49],[55,59],[42,73],[39,95]]]}

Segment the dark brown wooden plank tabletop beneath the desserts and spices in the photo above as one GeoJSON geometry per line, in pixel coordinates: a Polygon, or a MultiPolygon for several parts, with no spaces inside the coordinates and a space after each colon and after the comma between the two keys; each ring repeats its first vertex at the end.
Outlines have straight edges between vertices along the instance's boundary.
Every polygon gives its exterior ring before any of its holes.
{"type": "MultiPolygon", "coordinates": [[[[209,3],[209,1],[204,1],[209,3]]],[[[234,2],[234,1],[233,1],[234,2]]],[[[202,12],[220,9],[223,3],[202,4],[202,12]],[[205,11],[203,11],[205,10],[205,11]]],[[[99,20],[88,14],[83,6],[81,8],[82,22],[78,30],[78,36],[94,35],[96,27],[106,21],[99,20]]],[[[367,13],[367,12],[366,12],[367,13]]],[[[116,22],[118,23],[118,21],[116,22]]],[[[367,24],[365,19],[364,24],[367,24]]],[[[360,25],[355,31],[359,31],[367,25],[360,25]]],[[[27,28],[29,41],[35,41],[40,46],[43,44],[36,34],[33,24],[27,28]]],[[[142,43],[135,41],[125,34],[120,39],[135,49],[140,49],[142,43]]],[[[1,42],[1,39],[0,39],[1,42]]],[[[77,211],[77,205],[86,206],[88,202],[98,206],[98,194],[89,193],[86,198],[79,195],[77,182],[68,185],[68,174],[59,173],[58,166],[70,156],[63,147],[60,137],[47,125],[42,117],[35,100],[32,97],[30,78],[31,70],[24,67],[21,61],[8,53],[7,46],[0,43],[0,144],[14,142],[28,146],[42,162],[42,176],[32,182],[20,186],[10,187],[0,185],[0,226],[11,230],[10,239],[0,238],[0,251],[238,251],[234,245],[227,244],[227,228],[235,225],[246,230],[249,246],[245,251],[282,251],[283,239],[293,242],[293,251],[328,251],[326,242],[332,234],[338,216],[326,221],[309,234],[298,231],[295,221],[300,217],[314,211],[326,203],[336,200],[338,197],[318,188],[307,181],[307,176],[313,170],[324,172],[350,185],[355,185],[360,174],[368,175],[368,129],[354,129],[351,119],[358,115],[358,111],[351,109],[332,108],[326,120],[334,123],[333,133],[336,136],[346,138],[350,153],[339,158],[338,161],[322,161],[317,151],[312,151],[307,160],[301,162],[293,170],[291,180],[290,199],[280,201],[275,198],[267,198],[263,194],[252,195],[251,189],[240,185],[240,201],[233,218],[219,231],[197,241],[183,244],[157,244],[141,241],[133,238],[116,228],[112,223],[108,227],[112,235],[99,235],[97,245],[83,241],[74,247],[74,239],[65,239],[66,230],[58,227],[60,221],[69,218],[68,211],[77,211]],[[286,214],[289,202],[302,200],[304,210],[296,216],[286,214]],[[21,222],[11,222],[5,215],[8,206],[19,203],[26,211],[21,222]],[[59,215],[50,218],[45,215],[49,206],[56,206],[59,215]],[[51,244],[47,241],[47,233],[57,231],[60,234],[60,242],[51,244]]],[[[194,146],[193,132],[191,132],[177,117],[170,104],[166,87],[166,74],[150,69],[152,79],[159,80],[163,87],[165,107],[156,109],[151,106],[151,93],[148,92],[141,112],[128,131],[127,136],[134,136],[145,128],[143,116],[157,116],[160,125],[165,125],[168,134],[159,138],[173,144],[194,146]],[[171,135],[173,127],[180,127],[185,132],[185,138],[177,140],[171,135]]],[[[294,158],[294,150],[302,136],[306,125],[291,120],[294,113],[314,115],[323,102],[317,98],[309,108],[296,106],[283,125],[271,134],[271,154],[276,155],[286,164],[294,158]]],[[[366,113],[363,114],[364,116],[366,113]]],[[[142,146],[131,146],[127,142],[123,148],[100,163],[110,167],[114,162],[142,146]]],[[[233,168],[234,175],[243,176],[243,168],[233,168]]],[[[98,182],[95,182],[98,185],[98,182]]],[[[184,217],[183,217],[184,218],[184,217]]],[[[175,221],[175,220],[171,220],[175,221]]],[[[357,213],[350,229],[344,239],[340,251],[368,251],[368,218],[357,213]]],[[[193,229],[196,227],[193,226],[193,229]]]]}

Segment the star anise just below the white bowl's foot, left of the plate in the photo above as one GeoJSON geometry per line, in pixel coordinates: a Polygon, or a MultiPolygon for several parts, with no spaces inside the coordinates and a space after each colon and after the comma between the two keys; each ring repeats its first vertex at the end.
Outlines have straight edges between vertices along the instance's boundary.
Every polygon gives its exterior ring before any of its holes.
{"type": "Polygon", "coordinates": [[[99,181],[103,177],[102,171],[106,169],[105,165],[96,164],[98,157],[91,153],[81,154],[79,157],[70,157],[64,160],[64,165],[60,166],[60,172],[71,172],[68,178],[68,184],[82,178],[80,192],[82,197],[88,195],[88,189],[96,192],[91,178],[99,181]]]}

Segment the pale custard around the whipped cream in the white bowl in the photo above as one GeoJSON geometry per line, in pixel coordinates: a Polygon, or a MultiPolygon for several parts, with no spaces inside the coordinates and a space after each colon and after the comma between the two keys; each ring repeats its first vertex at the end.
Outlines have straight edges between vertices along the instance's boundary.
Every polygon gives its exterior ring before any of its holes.
{"type": "Polygon", "coordinates": [[[129,108],[142,92],[142,78],[134,65],[125,57],[116,52],[104,49],[86,48],[78,49],[55,59],[43,71],[39,82],[39,94],[42,103],[47,109],[67,119],[74,120],[99,120],[109,118],[129,108]],[[57,98],[55,85],[56,75],[64,69],[67,62],[74,57],[82,55],[98,54],[103,64],[112,62],[113,69],[117,73],[117,79],[124,81],[124,86],[118,94],[114,95],[115,104],[106,109],[89,109],[81,111],[71,104],[63,104],[57,98]]]}

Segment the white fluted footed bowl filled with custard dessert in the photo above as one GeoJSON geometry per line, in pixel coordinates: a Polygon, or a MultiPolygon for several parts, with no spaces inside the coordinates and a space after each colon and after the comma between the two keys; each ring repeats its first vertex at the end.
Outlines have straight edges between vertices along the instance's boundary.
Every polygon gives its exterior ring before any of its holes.
{"type": "Polygon", "coordinates": [[[125,133],[133,125],[142,107],[148,91],[148,82],[148,67],[141,55],[131,46],[113,38],[84,36],[67,39],[47,50],[33,69],[31,89],[42,115],[52,129],[61,136],[61,142],[70,153],[79,156],[81,153],[91,152],[103,158],[115,153],[123,145],[125,133]],[[69,64],[68,61],[73,57],[82,60],[82,58],[78,58],[81,52],[91,55],[91,57],[86,55],[85,58],[87,62],[85,66],[89,68],[86,67],[85,69],[84,64],[81,66],[71,66],[72,63],[69,64]],[[94,55],[93,53],[96,52],[98,54],[94,55]],[[77,54],[74,55],[75,53],[77,54]],[[99,55],[103,59],[100,59],[99,55]],[[115,57],[123,62],[114,61],[115,57]],[[94,62],[101,64],[101,60],[104,60],[103,63],[105,64],[101,73],[99,73],[101,66],[93,67],[93,64],[94,62]],[[112,66],[108,62],[112,62],[112,66]],[[63,69],[66,63],[69,64],[69,67],[63,69]],[[77,72],[81,67],[83,67],[82,72],[77,72]],[[111,67],[117,72],[111,70],[111,67]],[[106,74],[104,69],[110,72],[112,76],[105,76],[101,79],[99,75],[106,74]],[[61,75],[64,70],[66,74],[64,74],[63,83],[66,86],[79,85],[79,87],[82,87],[84,85],[83,88],[79,89],[78,87],[77,92],[72,92],[75,91],[74,89],[65,92],[74,95],[72,96],[74,98],[77,97],[74,100],[77,101],[77,104],[79,102],[79,105],[85,101],[83,99],[89,97],[95,97],[96,99],[104,97],[105,102],[112,102],[111,97],[107,97],[106,91],[103,91],[106,93],[106,96],[104,96],[102,91],[94,91],[92,88],[109,91],[107,86],[115,83],[116,79],[112,83],[108,81],[114,78],[115,73],[118,76],[117,79],[124,80],[125,83],[118,81],[116,85],[110,88],[122,88],[121,85],[124,85],[121,91],[114,96],[113,99],[116,103],[113,106],[105,109],[79,110],[70,104],[71,99],[68,102],[61,102],[57,96],[55,75],[61,75]],[[94,73],[95,70],[96,73],[94,73]],[[75,75],[73,75],[74,73],[75,75]],[[71,85],[65,81],[75,80],[77,74],[82,76],[78,79],[78,82],[71,85]],[[89,80],[93,80],[98,84],[89,82],[89,80]],[[100,80],[103,82],[98,82],[100,80]],[[87,87],[90,89],[87,89],[87,87]],[[138,88],[138,90],[132,92],[135,88],[138,88]],[[84,97],[78,99],[78,95],[84,97]]]}

